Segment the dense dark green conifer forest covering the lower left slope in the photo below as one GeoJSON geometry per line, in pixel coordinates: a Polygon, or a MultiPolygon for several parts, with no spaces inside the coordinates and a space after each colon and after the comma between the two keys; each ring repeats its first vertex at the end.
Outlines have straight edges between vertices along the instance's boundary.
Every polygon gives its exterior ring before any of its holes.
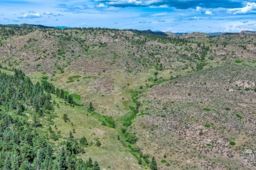
{"type": "MultiPolygon", "coordinates": [[[[1,66],[0,66],[1,67],[1,66]]],[[[77,158],[84,140],[65,139],[63,146],[49,140],[37,119],[53,113],[53,84],[32,80],[14,69],[14,75],[0,71],[0,169],[100,169],[98,162],[77,158]]],[[[72,99],[70,99],[70,103],[72,99]]]]}

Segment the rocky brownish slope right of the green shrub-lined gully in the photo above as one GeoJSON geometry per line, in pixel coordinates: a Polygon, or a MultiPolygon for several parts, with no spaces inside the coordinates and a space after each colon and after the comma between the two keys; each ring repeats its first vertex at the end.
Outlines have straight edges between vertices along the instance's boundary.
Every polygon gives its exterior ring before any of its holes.
{"type": "Polygon", "coordinates": [[[138,146],[166,160],[162,169],[255,167],[255,66],[205,69],[147,90],[138,146]]]}

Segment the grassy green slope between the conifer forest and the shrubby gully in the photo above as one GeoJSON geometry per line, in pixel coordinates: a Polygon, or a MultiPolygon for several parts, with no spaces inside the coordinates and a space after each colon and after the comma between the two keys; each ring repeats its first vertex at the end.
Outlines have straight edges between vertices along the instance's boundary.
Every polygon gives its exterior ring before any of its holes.
{"type": "Polygon", "coordinates": [[[60,105],[59,108],[54,107],[57,114],[54,118],[54,124],[58,127],[56,131],[61,131],[61,135],[68,138],[70,131],[75,129],[73,133],[75,139],[84,136],[89,141],[85,153],[80,155],[83,160],[87,160],[90,156],[98,161],[102,169],[108,167],[141,169],[137,158],[127,150],[126,146],[123,146],[121,140],[117,140],[117,129],[108,126],[112,118],[88,111],[84,107],[66,105],[63,99],[58,99],[55,95],[53,99],[60,105]],[[68,114],[70,122],[64,122],[62,118],[64,113],[68,114]],[[106,121],[107,126],[102,126],[102,121],[106,121]],[[96,146],[97,140],[100,141],[101,146],[96,146]]]}

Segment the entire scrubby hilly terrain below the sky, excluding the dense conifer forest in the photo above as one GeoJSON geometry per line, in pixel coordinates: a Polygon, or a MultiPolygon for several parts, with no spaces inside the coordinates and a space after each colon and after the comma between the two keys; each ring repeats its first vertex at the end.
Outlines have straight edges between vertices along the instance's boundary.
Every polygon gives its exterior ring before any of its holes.
{"type": "Polygon", "coordinates": [[[53,124],[102,169],[255,167],[255,35],[148,32],[0,27],[0,63],[74,98],[53,124]]]}

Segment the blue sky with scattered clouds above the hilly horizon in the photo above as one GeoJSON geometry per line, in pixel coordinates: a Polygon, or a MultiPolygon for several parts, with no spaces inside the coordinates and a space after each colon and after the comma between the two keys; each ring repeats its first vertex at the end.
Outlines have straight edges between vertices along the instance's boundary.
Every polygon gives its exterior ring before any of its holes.
{"type": "Polygon", "coordinates": [[[24,23],[173,33],[256,31],[256,0],[0,0],[0,24],[24,23]]]}

